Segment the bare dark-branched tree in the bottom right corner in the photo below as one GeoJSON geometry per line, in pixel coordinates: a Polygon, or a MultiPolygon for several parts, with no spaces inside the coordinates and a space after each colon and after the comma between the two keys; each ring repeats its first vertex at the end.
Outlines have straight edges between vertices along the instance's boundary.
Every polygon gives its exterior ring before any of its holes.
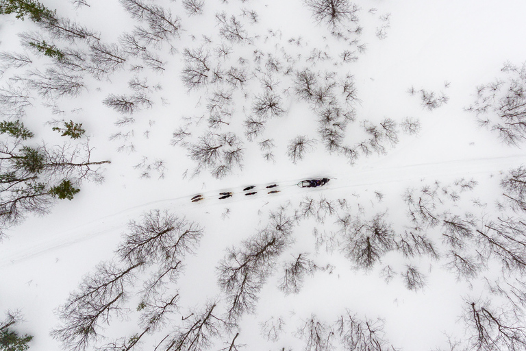
{"type": "Polygon", "coordinates": [[[466,300],[466,338],[471,350],[519,351],[526,348],[526,328],[512,313],[489,302],[466,300]]]}

